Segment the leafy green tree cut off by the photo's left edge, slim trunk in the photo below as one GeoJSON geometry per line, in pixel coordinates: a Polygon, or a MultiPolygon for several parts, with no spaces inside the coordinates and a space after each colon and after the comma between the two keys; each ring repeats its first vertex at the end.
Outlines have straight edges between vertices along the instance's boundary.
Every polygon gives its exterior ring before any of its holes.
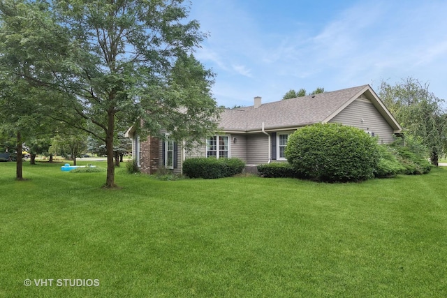
{"type": "MultiPolygon", "coordinates": [[[[43,91],[38,87],[42,87],[42,82],[50,75],[31,54],[45,51],[43,41],[53,40],[48,34],[40,34],[45,32],[45,26],[36,23],[34,17],[44,6],[38,2],[29,5],[0,2],[0,126],[1,130],[15,135],[16,179],[19,180],[23,179],[22,144],[38,133],[47,114],[41,104],[43,91]],[[30,38],[31,35],[36,38],[30,38]],[[34,84],[24,80],[26,77],[33,78],[34,84]]],[[[56,44],[54,48],[57,48],[56,44]]]]}

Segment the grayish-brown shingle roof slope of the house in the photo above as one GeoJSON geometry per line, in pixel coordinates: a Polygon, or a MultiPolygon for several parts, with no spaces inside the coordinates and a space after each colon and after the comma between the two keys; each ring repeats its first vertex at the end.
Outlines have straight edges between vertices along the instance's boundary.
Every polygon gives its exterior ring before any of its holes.
{"type": "Polygon", "coordinates": [[[226,109],[221,114],[219,126],[223,131],[258,131],[261,130],[263,122],[266,130],[315,124],[330,117],[368,87],[369,85],[362,85],[312,96],[290,98],[264,103],[257,108],[250,106],[226,109]]]}

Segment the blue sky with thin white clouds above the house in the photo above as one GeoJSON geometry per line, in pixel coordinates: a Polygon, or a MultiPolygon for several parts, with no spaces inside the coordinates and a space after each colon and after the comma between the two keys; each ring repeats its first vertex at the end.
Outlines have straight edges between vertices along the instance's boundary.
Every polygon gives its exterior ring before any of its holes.
{"type": "Polygon", "coordinates": [[[208,35],[195,56],[218,105],[407,77],[447,99],[445,0],[191,0],[189,17],[208,35]]]}

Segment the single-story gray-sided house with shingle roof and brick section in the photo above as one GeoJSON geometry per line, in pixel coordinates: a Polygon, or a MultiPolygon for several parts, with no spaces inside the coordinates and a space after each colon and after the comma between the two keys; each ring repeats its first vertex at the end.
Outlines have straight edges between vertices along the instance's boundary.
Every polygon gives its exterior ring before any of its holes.
{"type": "Polygon", "coordinates": [[[247,166],[286,161],[288,135],[309,124],[334,122],[360,128],[381,143],[393,142],[402,131],[374,90],[363,85],[264,104],[255,97],[252,106],[224,110],[221,133],[207,136],[206,144],[195,151],[156,137],[140,142],[131,130],[127,135],[133,137],[133,156],[141,171],[152,174],[161,166],[182,172],[184,159],[198,156],[237,157],[247,166]]]}

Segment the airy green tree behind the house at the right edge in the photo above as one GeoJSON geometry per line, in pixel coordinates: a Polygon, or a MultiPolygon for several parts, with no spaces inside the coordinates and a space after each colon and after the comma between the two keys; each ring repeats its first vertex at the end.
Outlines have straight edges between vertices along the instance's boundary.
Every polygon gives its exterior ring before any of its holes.
{"type": "Polygon", "coordinates": [[[447,117],[444,100],[429,90],[430,84],[408,77],[390,85],[382,81],[379,97],[404,128],[406,135],[422,140],[430,161],[438,165],[446,151],[447,117]]]}

